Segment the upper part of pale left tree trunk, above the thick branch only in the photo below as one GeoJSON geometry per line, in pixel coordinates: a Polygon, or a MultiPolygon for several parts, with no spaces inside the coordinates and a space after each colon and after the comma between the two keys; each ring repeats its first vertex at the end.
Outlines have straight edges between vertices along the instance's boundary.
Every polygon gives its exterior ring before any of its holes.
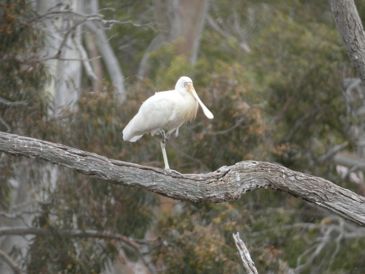
{"type": "MultiPolygon", "coordinates": [[[[64,5],[69,5],[69,8],[74,11],[82,11],[84,4],[83,0],[38,0],[37,11],[40,14],[48,12],[55,8],[57,4],[60,9],[64,5]]],[[[55,8],[58,9],[58,8],[55,8]]],[[[78,99],[78,88],[80,88],[82,62],[80,51],[77,44],[81,43],[81,26],[78,25],[70,33],[68,31],[75,23],[73,19],[65,20],[63,16],[58,19],[44,20],[45,24],[45,48],[43,49],[44,56],[55,56],[59,51],[59,58],[45,61],[48,68],[48,73],[51,76],[50,84],[46,90],[54,99],[54,115],[59,115],[63,107],[75,107],[78,99]]]]}

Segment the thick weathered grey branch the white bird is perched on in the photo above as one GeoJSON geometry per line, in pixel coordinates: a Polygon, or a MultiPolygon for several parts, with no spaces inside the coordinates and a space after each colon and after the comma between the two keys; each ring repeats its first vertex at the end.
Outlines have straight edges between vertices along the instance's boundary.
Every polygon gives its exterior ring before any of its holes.
{"type": "Polygon", "coordinates": [[[218,203],[239,199],[255,189],[284,191],[365,226],[364,197],[328,180],[271,163],[242,161],[208,174],[179,175],[4,132],[0,132],[0,151],[50,161],[93,178],[181,201],[218,203]]]}

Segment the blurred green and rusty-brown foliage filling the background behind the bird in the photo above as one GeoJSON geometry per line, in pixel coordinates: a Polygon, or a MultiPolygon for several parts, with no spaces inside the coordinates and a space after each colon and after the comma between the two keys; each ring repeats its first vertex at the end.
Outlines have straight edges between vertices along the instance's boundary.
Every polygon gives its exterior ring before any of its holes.
{"type": "MultiPolygon", "coordinates": [[[[348,129],[358,120],[349,115],[343,79],[356,72],[334,24],[327,1],[212,0],[208,15],[227,34],[206,23],[199,58],[192,64],[178,54],[177,43],[150,53],[147,76],[136,76],[141,58],[155,32],[151,28],[115,25],[110,43],[127,76],[127,99],[116,95],[110,77],[103,89],[87,83],[76,109],[54,117],[43,86],[50,81],[37,57],[42,33],[29,24],[28,1],[5,1],[0,7],[0,130],[59,142],[108,158],[162,167],[157,137],[123,142],[122,130],[141,102],[156,91],[173,89],[177,79],[193,79],[204,104],[214,114],[208,121],[199,109],[194,122],[170,136],[170,166],[181,173],[200,173],[243,160],[269,161],[328,178],[357,191],[337,176],[331,158],[319,161],[334,146],[354,138],[348,129]],[[235,28],[239,24],[239,28],[235,28]],[[239,31],[241,30],[241,32],[239,31]],[[244,39],[243,39],[244,38],[244,39]],[[32,60],[27,58],[27,60],[32,60]],[[7,104],[6,102],[18,102],[7,104]]],[[[364,22],[365,3],[356,1],[364,22]]],[[[151,1],[100,1],[108,19],[154,21],[151,1]]],[[[1,156],[0,211],[11,199],[8,178],[16,157],[1,156]]],[[[238,201],[220,204],[179,202],[159,213],[158,197],[146,191],[115,186],[57,168],[57,187],[47,163],[30,160],[30,185],[46,197],[35,227],[48,231],[35,237],[24,267],[28,273],[100,273],[123,248],[114,240],[65,238],[60,231],[77,227],[144,239],[150,236],[152,262],[162,273],[245,273],[232,234],[240,232],[260,273],[362,273],[364,233],[336,241],[334,230],[326,249],[311,256],[337,216],[285,193],[256,190],[238,201]],[[43,258],[39,260],[39,258],[43,258]],[[306,264],[309,262],[309,264],[306,264]],[[271,272],[270,272],[271,271],[271,272]]],[[[353,226],[347,224],[348,227],[353,226]]],[[[19,250],[14,247],[11,255],[19,250]]]]}

